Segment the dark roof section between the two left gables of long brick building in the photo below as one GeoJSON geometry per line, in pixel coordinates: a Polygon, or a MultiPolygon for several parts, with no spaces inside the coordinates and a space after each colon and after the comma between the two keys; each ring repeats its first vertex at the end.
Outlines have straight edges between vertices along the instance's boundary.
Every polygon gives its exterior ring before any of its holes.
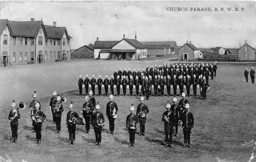
{"type": "MultiPolygon", "coordinates": [[[[14,36],[37,36],[43,21],[9,21],[10,33],[14,36]]],[[[43,24],[44,34],[44,24],[43,24]]]]}

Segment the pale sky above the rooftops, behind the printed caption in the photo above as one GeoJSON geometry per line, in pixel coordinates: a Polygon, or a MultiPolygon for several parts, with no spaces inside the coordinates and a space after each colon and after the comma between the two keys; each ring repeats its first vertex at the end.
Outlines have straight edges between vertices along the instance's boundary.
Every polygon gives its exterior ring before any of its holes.
{"type": "Polygon", "coordinates": [[[43,20],[65,26],[76,49],[100,41],[191,41],[197,48],[239,48],[245,41],[256,48],[256,2],[253,1],[8,1],[0,3],[0,18],[43,20]],[[167,8],[188,11],[167,11],[167,8]],[[212,11],[190,11],[190,8],[212,11]],[[217,8],[219,11],[214,11],[217,8]],[[224,8],[225,11],[220,11],[224,8]],[[228,11],[232,8],[233,11],[228,11]],[[240,11],[235,11],[238,8],[240,11]],[[241,11],[244,8],[244,11],[241,11]]]}

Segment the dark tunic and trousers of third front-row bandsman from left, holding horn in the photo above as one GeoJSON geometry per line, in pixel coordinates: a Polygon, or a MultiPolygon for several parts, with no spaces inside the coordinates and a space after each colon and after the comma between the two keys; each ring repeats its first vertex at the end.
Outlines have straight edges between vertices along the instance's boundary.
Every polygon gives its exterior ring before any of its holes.
{"type": "Polygon", "coordinates": [[[69,141],[75,141],[76,139],[76,122],[75,124],[72,122],[68,122],[69,119],[76,117],[79,119],[79,115],[75,111],[69,111],[67,114],[67,119],[66,119],[66,125],[68,125],[68,134],[69,134],[69,141]]]}

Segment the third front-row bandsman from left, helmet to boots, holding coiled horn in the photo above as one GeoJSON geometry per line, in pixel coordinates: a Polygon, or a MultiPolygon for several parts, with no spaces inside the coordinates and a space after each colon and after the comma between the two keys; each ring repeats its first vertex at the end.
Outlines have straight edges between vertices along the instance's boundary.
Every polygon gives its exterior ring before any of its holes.
{"type": "Polygon", "coordinates": [[[74,111],[74,105],[72,101],[69,105],[69,109],[70,111],[67,113],[67,119],[66,119],[66,126],[68,127],[68,134],[69,134],[69,144],[75,144],[76,119],[79,119],[79,115],[74,111]]]}

